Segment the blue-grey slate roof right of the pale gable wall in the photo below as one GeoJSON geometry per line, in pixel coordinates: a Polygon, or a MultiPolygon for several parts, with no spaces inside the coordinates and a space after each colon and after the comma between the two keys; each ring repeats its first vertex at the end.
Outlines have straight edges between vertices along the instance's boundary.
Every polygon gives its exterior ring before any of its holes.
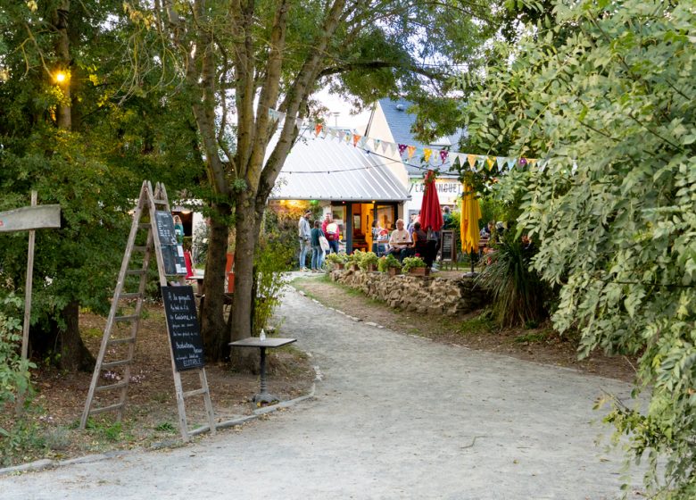
{"type": "MultiPolygon", "coordinates": [[[[460,137],[464,134],[463,130],[459,130],[452,134],[451,136],[441,137],[435,141],[433,144],[424,145],[413,137],[413,124],[416,122],[416,115],[408,112],[410,106],[413,103],[407,101],[406,99],[399,99],[398,101],[393,101],[392,99],[380,99],[379,106],[382,108],[382,112],[385,113],[385,119],[389,125],[389,129],[392,131],[392,136],[394,137],[394,142],[396,144],[405,144],[407,146],[416,146],[419,150],[424,147],[429,147],[434,150],[433,156],[436,152],[443,149],[443,147],[450,147],[451,151],[457,151],[457,146],[459,145],[460,137]]],[[[369,134],[368,134],[369,135],[369,134]]],[[[404,162],[406,171],[409,172],[410,176],[420,176],[423,174],[425,169],[412,166],[416,164],[415,157],[409,162],[404,162]]],[[[431,160],[433,165],[439,165],[439,161],[431,160]]],[[[458,175],[457,171],[450,171],[449,167],[452,163],[448,159],[440,167],[440,173],[443,175],[458,175]]]]}

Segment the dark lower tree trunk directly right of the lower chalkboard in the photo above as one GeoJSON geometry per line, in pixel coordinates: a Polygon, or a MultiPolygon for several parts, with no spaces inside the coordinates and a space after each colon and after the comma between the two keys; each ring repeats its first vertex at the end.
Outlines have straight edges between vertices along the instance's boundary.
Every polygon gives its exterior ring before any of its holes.
{"type": "Polygon", "coordinates": [[[228,204],[213,204],[211,217],[211,237],[208,242],[208,256],[205,262],[205,282],[203,292],[203,311],[201,312],[201,333],[203,348],[208,361],[220,362],[229,357],[229,338],[225,328],[222,306],[225,300],[225,263],[228,251],[228,204]]]}

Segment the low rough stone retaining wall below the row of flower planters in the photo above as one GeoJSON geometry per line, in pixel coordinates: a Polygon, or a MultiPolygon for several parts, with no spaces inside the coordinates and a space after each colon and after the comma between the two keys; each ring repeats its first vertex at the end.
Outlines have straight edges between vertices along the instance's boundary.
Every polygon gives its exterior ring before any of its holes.
{"type": "Polygon", "coordinates": [[[488,292],[470,278],[389,276],[377,271],[331,271],[331,279],[405,311],[455,315],[490,303],[488,292]]]}

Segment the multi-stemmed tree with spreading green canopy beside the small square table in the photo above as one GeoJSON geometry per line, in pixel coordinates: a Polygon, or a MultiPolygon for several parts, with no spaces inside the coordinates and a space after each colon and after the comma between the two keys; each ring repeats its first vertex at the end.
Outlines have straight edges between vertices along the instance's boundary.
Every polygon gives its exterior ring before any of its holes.
{"type": "MultiPolygon", "coordinates": [[[[191,95],[215,209],[203,335],[207,353],[221,358],[229,340],[222,321],[229,217],[234,212],[236,339],[251,334],[253,254],[261,215],[297,136],[294,118],[311,112],[311,95],[331,82],[364,102],[400,91],[422,99],[440,87],[448,63],[473,61],[472,47],[491,29],[490,7],[477,0],[126,4],[131,19],[151,28],[148,36],[157,44],[150,49],[157,51],[157,61],[179,68],[191,95]],[[456,37],[448,36],[454,32],[456,37]],[[288,120],[267,155],[276,129],[269,108],[285,112],[288,120]]],[[[141,59],[145,66],[139,71],[153,60],[141,59]]]]}

